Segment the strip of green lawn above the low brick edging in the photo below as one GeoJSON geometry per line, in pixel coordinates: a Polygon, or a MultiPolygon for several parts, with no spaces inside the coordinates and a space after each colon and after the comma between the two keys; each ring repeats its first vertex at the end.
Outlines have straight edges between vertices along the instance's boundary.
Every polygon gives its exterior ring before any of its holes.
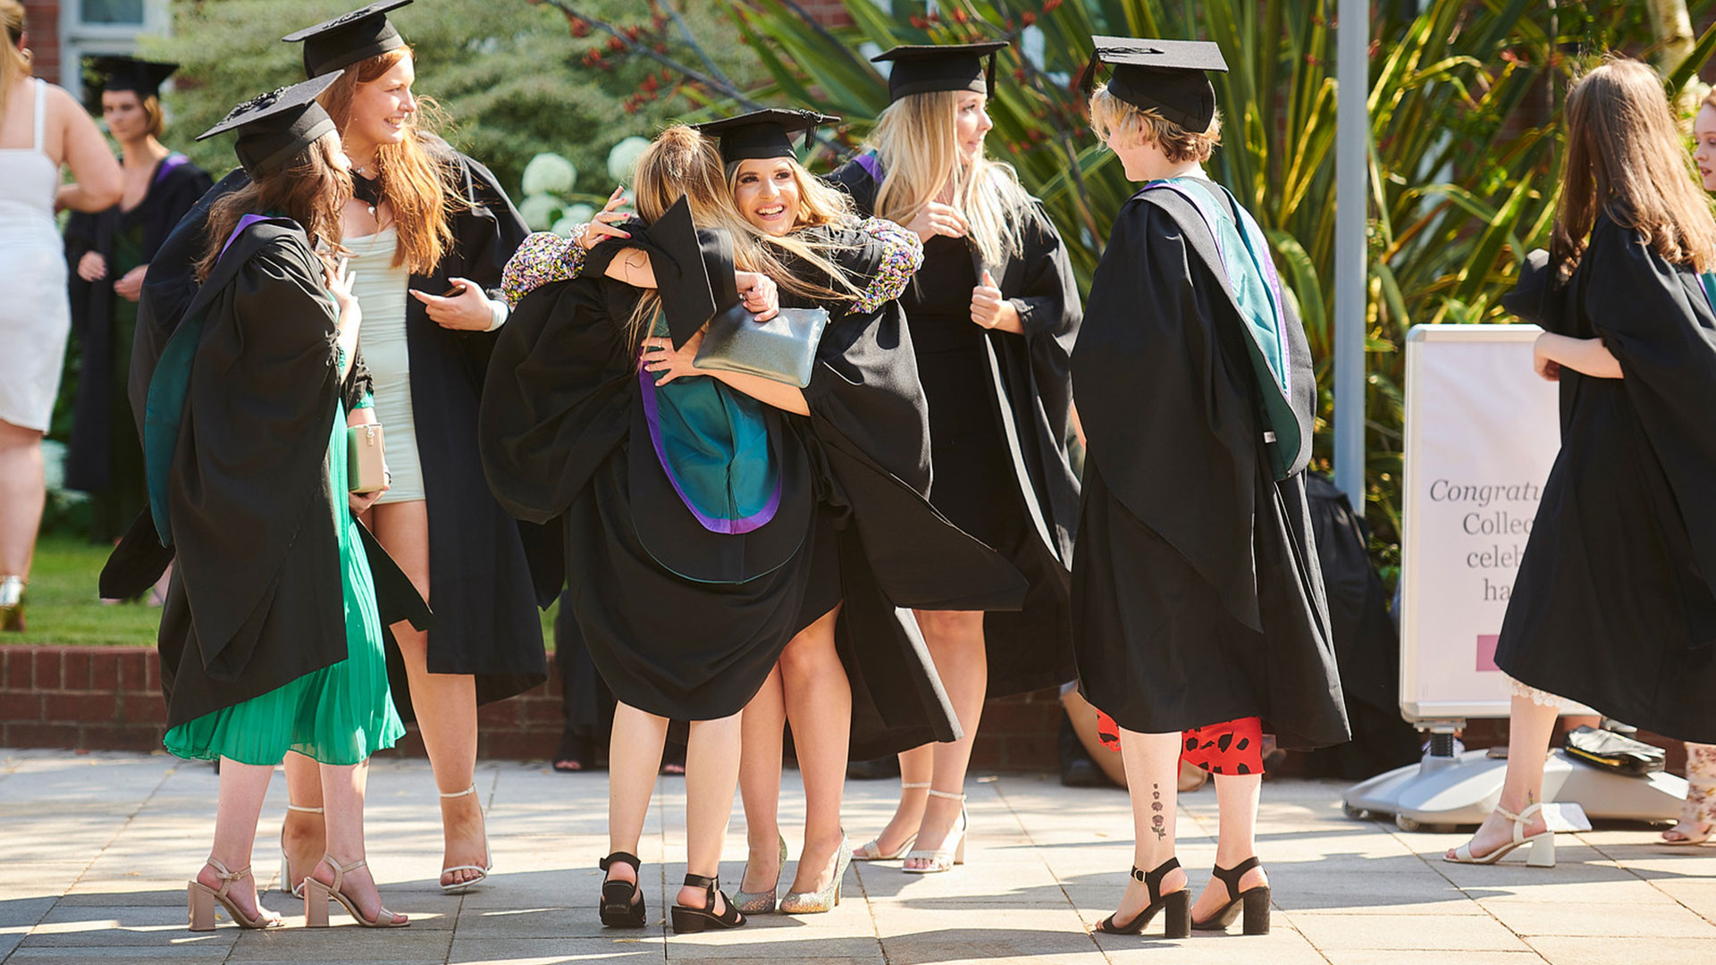
{"type": "MultiPolygon", "coordinates": [[[[106,563],[106,546],[76,536],[43,536],[24,594],[29,628],[7,634],[5,644],[153,647],[161,611],[142,603],[105,606],[96,598],[96,577],[106,563]]],[[[542,611],[542,640],[554,647],[554,606],[542,611]]]]}

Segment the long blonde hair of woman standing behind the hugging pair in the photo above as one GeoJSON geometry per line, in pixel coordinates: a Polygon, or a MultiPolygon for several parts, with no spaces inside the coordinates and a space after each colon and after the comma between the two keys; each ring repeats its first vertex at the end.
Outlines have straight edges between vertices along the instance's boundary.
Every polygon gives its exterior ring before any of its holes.
{"type": "Polygon", "coordinates": [[[1018,211],[1031,203],[1012,165],[978,155],[959,161],[956,125],[964,91],[925,91],[887,105],[877,118],[867,149],[882,158],[882,185],[875,194],[880,218],[911,222],[952,185],[951,204],[971,225],[968,235],[987,264],[1024,249],[1018,211]]]}

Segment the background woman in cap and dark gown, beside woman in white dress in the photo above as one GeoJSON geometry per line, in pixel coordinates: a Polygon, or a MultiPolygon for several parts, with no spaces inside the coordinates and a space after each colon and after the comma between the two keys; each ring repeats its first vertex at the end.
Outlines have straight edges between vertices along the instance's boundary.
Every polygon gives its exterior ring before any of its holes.
{"type": "MultiPolygon", "coordinates": [[[[118,141],[125,194],[105,211],[76,213],[65,223],[79,350],[65,484],[91,495],[89,537],[115,543],[148,501],[125,391],[142,276],[166,234],[214,182],[160,141],[166,127],[160,88],[177,64],[100,57],[91,67],[100,82],[89,86],[86,105],[118,141]]],[[[165,592],[165,584],[154,587],[149,603],[160,606],[165,592]]]]}

